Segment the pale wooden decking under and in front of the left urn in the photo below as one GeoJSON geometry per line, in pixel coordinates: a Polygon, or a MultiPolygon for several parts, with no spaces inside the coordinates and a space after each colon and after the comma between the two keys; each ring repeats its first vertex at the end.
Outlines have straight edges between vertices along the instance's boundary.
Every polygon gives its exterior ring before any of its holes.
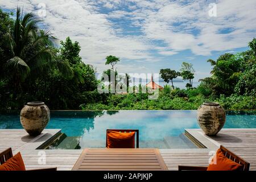
{"type": "Polygon", "coordinates": [[[57,170],[71,170],[82,150],[36,150],[60,131],[46,129],[39,136],[30,137],[24,130],[0,129],[0,151],[11,147],[13,154],[20,152],[26,169],[57,167],[57,170]],[[43,155],[46,156],[46,163],[39,164],[43,155]]]}

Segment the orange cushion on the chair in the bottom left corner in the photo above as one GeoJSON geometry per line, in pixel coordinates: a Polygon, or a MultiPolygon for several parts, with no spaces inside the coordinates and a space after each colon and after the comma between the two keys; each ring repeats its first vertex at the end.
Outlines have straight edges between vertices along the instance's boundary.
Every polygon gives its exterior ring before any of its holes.
{"type": "Polygon", "coordinates": [[[0,166],[0,171],[26,171],[20,152],[0,166]]]}

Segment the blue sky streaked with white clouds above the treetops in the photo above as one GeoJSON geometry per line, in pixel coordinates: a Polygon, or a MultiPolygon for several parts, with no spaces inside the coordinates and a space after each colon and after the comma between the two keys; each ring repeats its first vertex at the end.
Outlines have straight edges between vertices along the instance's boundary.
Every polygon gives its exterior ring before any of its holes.
{"type": "Polygon", "coordinates": [[[179,71],[185,61],[199,80],[210,76],[208,59],[245,51],[256,37],[255,0],[0,0],[5,11],[17,6],[38,15],[59,40],[79,42],[82,60],[98,73],[114,55],[120,73],[179,71]]]}

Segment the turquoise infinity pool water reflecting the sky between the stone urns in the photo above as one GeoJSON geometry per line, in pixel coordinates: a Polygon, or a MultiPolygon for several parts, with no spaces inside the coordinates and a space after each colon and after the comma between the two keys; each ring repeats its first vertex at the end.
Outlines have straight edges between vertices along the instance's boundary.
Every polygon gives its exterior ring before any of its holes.
{"type": "MultiPolygon", "coordinates": [[[[51,148],[105,147],[106,129],[139,129],[140,147],[197,148],[184,129],[197,129],[196,110],[52,111],[47,129],[67,137],[51,148]]],[[[227,111],[224,128],[256,128],[256,111],[227,111]]],[[[22,129],[19,114],[0,113],[0,129],[22,129]]]]}

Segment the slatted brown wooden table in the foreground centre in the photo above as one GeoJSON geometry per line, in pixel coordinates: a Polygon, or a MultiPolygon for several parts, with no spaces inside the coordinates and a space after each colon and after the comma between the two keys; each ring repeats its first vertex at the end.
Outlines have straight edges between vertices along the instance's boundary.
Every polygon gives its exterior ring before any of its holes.
{"type": "Polygon", "coordinates": [[[157,148],[84,149],[72,170],[163,171],[168,170],[157,148]]]}

